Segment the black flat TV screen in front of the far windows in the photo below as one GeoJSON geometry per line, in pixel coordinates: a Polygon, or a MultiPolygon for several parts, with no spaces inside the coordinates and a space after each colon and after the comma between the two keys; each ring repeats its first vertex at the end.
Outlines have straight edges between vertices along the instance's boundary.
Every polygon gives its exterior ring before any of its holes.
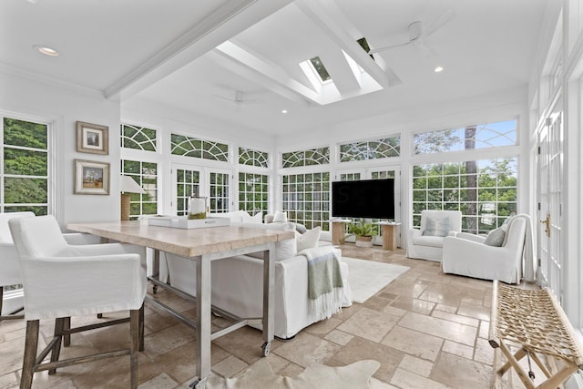
{"type": "Polygon", "coordinates": [[[394,220],[394,179],[332,181],[332,217],[394,220]]]}

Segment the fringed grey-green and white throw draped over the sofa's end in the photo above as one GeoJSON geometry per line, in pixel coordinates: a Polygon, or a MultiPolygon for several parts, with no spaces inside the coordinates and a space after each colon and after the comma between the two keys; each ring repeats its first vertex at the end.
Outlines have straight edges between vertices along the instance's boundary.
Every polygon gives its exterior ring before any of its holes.
{"type": "Polygon", "coordinates": [[[308,261],[310,320],[321,321],[341,312],[343,277],[336,253],[329,247],[315,247],[300,253],[308,261]]]}

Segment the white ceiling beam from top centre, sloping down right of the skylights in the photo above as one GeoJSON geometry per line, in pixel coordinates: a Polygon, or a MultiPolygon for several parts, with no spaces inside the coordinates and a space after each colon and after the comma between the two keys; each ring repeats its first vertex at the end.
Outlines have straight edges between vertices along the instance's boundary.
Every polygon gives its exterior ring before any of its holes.
{"type": "Polygon", "coordinates": [[[316,26],[320,26],[322,31],[348,56],[351,56],[379,85],[386,88],[401,84],[399,77],[390,68],[380,67],[373,58],[364,52],[363,47],[356,42],[356,39],[362,36],[351,36],[349,31],[354,33],[357,29],[332,0],[296,0],[294,5],[297,5],[305,15],[310,17],[316,26]]]}

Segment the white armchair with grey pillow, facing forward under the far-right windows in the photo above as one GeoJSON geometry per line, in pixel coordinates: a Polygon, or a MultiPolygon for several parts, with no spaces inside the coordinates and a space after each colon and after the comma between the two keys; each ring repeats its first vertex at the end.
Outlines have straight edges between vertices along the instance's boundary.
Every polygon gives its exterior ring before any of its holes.
{"type": "Polygon", "coordinates": [[[407,257],[441,261],[445,236],[461,230],[462,212],[459,210],[422,210],[420,229],[409,229],[407,235],[407,257]]]}

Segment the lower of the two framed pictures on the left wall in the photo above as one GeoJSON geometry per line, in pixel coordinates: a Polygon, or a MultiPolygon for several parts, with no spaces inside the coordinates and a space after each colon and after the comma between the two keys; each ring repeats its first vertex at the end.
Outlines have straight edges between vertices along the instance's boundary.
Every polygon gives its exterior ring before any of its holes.
{"type": "Polygon", "coordinates": [[[75,159],[75,194],[109,194],[109,164],[75,159]]]}

